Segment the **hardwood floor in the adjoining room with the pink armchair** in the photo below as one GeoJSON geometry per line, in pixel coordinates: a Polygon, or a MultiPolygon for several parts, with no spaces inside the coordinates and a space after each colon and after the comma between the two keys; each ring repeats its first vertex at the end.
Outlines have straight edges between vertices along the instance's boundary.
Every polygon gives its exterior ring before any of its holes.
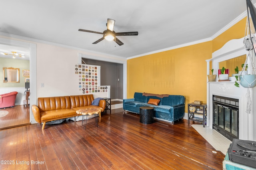
{"type": "Polygon", "coordinates": [[[30,124],[29,107],[16,105],[0,110],[9,112],[8,115],[0,118],[0,130],[30,124]]]}

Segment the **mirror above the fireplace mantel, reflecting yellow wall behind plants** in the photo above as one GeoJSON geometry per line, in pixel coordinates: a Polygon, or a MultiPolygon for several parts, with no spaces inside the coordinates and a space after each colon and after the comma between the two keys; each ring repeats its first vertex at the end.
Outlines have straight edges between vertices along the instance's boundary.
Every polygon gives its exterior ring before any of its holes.
{"type": "Polygon", "coordinates": [[[242,64],[244,64],[245,60],[246,54],[225,61],[221,61],[219,62],[219,69],[222,69],[222,67],[229,69],[229,76],[232,76],[232,74],[236,73],[236,66],[238,67],[239,71],[242,71],[242,64]]]}

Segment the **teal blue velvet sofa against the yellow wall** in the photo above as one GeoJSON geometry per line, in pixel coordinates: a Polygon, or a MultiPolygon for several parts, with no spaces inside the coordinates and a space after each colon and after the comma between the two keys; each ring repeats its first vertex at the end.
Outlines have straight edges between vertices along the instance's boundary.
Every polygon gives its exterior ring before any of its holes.
{"type": "Polygon", "coordinates": [[[123,109],[125,111],[140,113],[140,107],[149,106],[154,107],[154,117],[163,119],[174,123],[182,119],[185,114],[185,97],[182,95],[168,95],[168,97],[161,97],[161,95],[144,93],[134,93],[134,98],[123,99],[123,109]],[[148,104],[149,99],[159,99],[158,105],[148,104]]]}

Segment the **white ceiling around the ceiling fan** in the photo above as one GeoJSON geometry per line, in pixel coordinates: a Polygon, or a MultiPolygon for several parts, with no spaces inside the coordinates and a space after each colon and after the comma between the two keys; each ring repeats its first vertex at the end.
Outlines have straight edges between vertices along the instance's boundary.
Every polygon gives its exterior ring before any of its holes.
{"type": "Polygon", "coordinates": [[[0,32],[128,58],[211,38],[246,11],[246,0],[5,0],[1,6],[0,32]],[[107,18],[116,20],[115,32],[138,36],[118,36],[122,46],[92,44],[102,35],[78,31],[103,32],[107,18]]]}

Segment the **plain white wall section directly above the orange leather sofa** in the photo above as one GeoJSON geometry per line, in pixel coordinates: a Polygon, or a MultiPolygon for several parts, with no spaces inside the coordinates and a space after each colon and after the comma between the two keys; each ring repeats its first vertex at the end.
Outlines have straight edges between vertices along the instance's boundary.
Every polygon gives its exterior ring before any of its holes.
{"type": "Polygon", "coordinates": [[[77,50],[38,43],[37,97],[79,95],[74,74],[77,57],[77,50]]]}

